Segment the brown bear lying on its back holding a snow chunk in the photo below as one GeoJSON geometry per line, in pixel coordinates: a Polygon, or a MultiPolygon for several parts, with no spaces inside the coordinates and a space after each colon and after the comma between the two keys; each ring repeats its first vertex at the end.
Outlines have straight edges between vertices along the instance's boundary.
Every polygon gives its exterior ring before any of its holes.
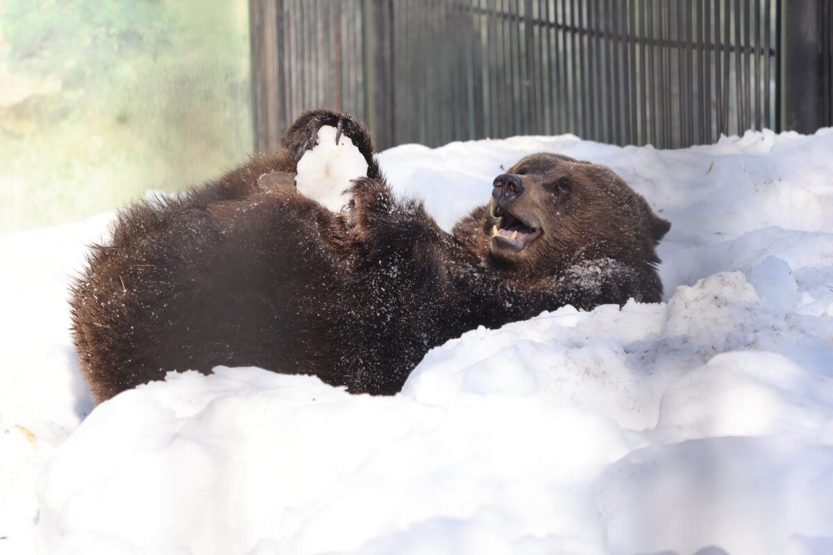
{"type": "Polygon", "coordinates": [[[359,121],[309,111],[277,153],[121,211],[73,287],[72,329],[97,402],[218,364],[395,394],[429,349],[479,325],[661,300],[655,247],[669,227],[606,167],[536,154],[449,235],[392,196],[359,121]],[[350,211],[293,186],[321,126],[367,161],[350,211]]]}

